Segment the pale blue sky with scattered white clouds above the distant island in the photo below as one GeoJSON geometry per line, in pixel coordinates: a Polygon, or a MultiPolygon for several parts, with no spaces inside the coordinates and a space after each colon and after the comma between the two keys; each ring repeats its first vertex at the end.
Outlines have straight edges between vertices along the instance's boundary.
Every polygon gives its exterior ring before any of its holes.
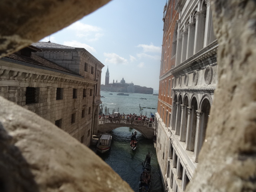
{"type": "Polygon", "coordinates": [[[95,12],[40,41],[85,48],[97,58],[105,84],[113,80],[159,88],[166,0],[112,0],[95,12]]]}

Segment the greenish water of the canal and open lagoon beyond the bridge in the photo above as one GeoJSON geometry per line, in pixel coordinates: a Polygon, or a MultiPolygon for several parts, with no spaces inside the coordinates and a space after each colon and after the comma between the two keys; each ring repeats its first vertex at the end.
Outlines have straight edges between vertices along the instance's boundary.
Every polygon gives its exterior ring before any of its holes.
{"type": "MultiPolygon", "coordinates": [[[[135,113],[138,115],[140,114],[139,106],[146,107],[143,108],[142,114],[146,114],[147,112],[148,117],[150,116],[150,112],[155,113],[157,111],[158,96],[135,93],[129,93],[129,96],[117,96],[116,92],[101,92],[101,96],[105,97],[101,98],[102,104],[104,104],[104,107],[107,106],[107,108],[109,108],[110,114],[112,114],[113,109],[117,112],[119,108],[120,113],[135,113]],[[109,93],[112,93],[112,95],[109,95],[109,93]],[[146,98],[147,100],[140,98],[146,98]]],[[[129,127],[114,129],[112,131],[113,140],[110,152],[106,154],[97,154],[108,165],[110,165],[134,191],[138,191],[138,183],[142,170],[141,163],[144,162],[148,152],[152,153],[152,183],[150,192],[163,192],[164,190],[161,182],[160,169],[156,158],[153,140],[144,138],[144,136],[137,131],[138,133],[136,138],[138,141],[138,147],[135,151],[132,151],[130,149],[130,136],[134,131],[135,129],[129,127]]],[[[95,146],[91,146],[90,148],[96,152],[95,146]]]]}

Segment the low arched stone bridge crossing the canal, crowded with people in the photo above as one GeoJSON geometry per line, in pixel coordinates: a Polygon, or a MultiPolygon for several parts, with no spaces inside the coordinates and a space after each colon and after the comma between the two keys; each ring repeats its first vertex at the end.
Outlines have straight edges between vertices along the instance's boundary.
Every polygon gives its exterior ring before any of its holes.
{"type": "Polygon", "coordinates": [[[139,131],[145,138],[154,138],[155,123],[144,120],[131,120],[126,118],[100,119],[98,133],[110,132],[118,127],[130,127],[139,131]]]}

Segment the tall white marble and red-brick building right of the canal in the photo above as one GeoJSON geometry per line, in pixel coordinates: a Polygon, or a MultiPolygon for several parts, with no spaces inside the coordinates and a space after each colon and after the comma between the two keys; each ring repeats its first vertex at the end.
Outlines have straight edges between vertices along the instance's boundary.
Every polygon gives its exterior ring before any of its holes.
{"type": "Polygon", "coordinates": [[[163,21],[156,152],[166,191],[182,192],[205,140],[218,43],[210,0],[169,0],[163,21]]]}

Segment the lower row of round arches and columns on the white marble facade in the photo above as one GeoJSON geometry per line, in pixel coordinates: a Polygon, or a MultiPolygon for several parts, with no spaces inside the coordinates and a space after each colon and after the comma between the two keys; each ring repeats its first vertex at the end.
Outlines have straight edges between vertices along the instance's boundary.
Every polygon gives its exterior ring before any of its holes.
{"type": "Polygon", "coordinates": [[[171,130],[185,142],[186,150],[194,152],[195,162],[205,140],[211,105],[210,94],[203,94],[199,100],[197,93],[174,93],[171,130]]]}

